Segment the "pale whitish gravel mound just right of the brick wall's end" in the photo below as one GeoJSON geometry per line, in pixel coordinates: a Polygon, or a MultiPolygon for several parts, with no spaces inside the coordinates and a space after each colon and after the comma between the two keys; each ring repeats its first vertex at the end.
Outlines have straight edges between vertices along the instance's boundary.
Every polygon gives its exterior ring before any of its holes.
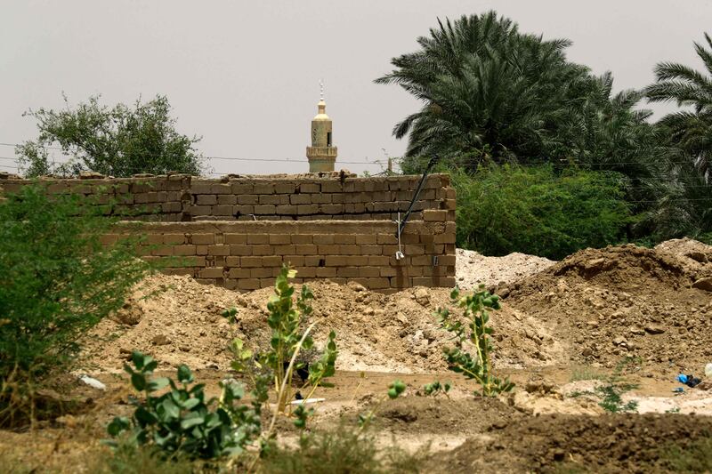
{"type": "Polygon", "coordinates": [[[457,285],[471,290],[477,285],[505,285],[529,277],[554,265],[555,261],[527,255],[510,253],[504,257],[486,257],[473,250],[457,249],[455,274],[457,285]]]}

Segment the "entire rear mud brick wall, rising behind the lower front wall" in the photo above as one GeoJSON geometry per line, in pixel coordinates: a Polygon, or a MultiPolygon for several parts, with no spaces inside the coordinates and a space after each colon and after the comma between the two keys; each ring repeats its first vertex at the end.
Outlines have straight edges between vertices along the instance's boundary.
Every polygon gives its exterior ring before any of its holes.
{"type": "MultiPolygon", "coordinates": [[[[109,214],[136,221],[392,221],[405,213],[420,176],[376,178],[316,174],[225,177],[203,180],[189,175],[125,179],[44,180],[50,192],[96,198],[109,214]]],[[[31,181],[2,179],[0,196],[31,181]]],[[[455,210],[455,190],[447,174],[428,176],[411,219],[422,211],[455,210]]],[[[454,218],[453,218],[454,219],[454,218]]]]}

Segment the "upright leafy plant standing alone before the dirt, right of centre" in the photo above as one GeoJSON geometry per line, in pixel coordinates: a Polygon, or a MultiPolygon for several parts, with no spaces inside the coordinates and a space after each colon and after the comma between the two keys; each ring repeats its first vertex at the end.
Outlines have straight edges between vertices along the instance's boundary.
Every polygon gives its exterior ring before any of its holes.
{"type": "Polygon", "coordinates": [[[500,392],[512,390],[514,383],[492,374],[491,354],[494,348],[490,338],[492,328],[488,323],[490,309],[500,309],[498,295],[490,294],[484,285],[480,285],[477,291],[466,296],[460,296],[459,290],[455,288],[450,293],[450,299],[463,309],[463,317],[469,325],[465,326],[453,317],[449,309],[439,308],[436,312],[441,327],[455,336],[455,347],[443,350],[448,368],[478,382],[481,386],[479,393],[484,397],[494,397],[500,392]],[[476,350],[474,355],[465,350],[465,341],[472,342],[476,350]]]}

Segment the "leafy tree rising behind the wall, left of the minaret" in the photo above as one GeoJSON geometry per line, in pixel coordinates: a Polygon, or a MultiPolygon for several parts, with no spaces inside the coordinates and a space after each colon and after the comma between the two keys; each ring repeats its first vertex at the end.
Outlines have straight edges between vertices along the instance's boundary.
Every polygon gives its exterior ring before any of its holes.
{"type": "Polygon", "coordinates": [[[134,108],[117,104],[108,108],[99,96],[89,98],[77,108],[66,110],[39,108],[25,115],[37,121],[39,136],[17,147],[20,165],[28,177],[56,174],[74,176],[93,171],[116,177],[135,173],[200,173],[202,157],[194,145],[200,140],[177,133],[171,106],[165,96],[134,108]],[[49,149],[59,144],[67,163],[51,163],[49,149]]]}

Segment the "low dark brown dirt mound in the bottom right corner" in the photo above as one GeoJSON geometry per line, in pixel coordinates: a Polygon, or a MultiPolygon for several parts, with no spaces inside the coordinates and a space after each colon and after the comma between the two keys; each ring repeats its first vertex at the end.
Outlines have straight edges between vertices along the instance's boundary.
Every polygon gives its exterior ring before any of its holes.
{"type": "MultiPolygon", "coordinates": [[[[470,439],[433,465],[450,472],[546,472],[564,464],[572,472],[669,471],[661,459],[667,446],[685,447],[712,434],[712,418],[681,414],[527,417],[496,437],[470,439]],[[443,459],[444,458],[444,459],[443,459]]],[[[562,470],[554,471],[569,471],[562,470]]]]}

